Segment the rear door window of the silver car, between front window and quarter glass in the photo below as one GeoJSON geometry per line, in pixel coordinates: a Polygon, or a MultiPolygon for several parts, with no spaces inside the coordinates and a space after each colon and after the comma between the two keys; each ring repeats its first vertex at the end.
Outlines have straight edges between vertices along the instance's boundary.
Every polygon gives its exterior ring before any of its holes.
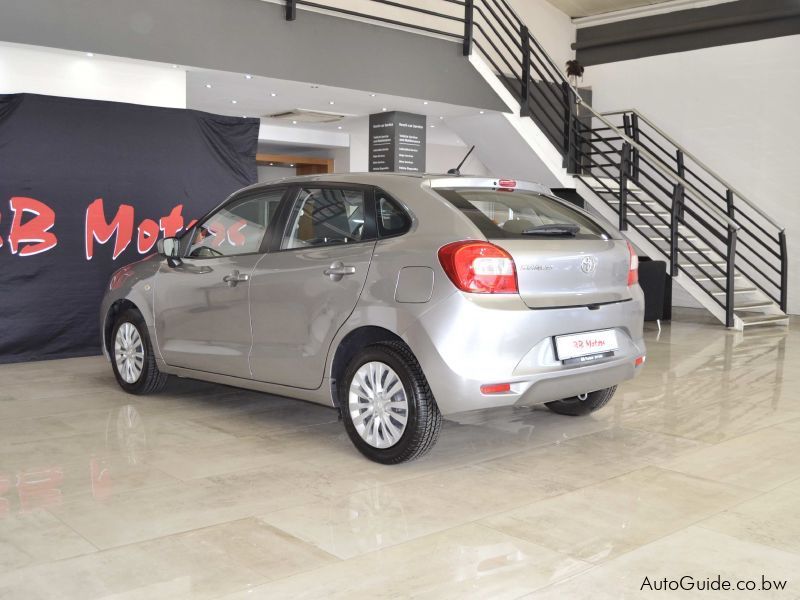
{"type": "Polygon", "coordinates": [[[362,190],[303,188],[295,201],[281,250],[350,244],[365,238],[362,190]]]}

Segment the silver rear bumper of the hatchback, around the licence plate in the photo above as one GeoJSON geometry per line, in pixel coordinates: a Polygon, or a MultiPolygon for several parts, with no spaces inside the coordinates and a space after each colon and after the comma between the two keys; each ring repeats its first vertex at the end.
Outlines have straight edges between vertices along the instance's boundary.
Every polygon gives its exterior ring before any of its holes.
{"type": "Polygon", "coordinates": [[[636,286],[627,302],[532,310],[518,296],[456,293],[404,332],[443,414],[533,405],[617,385],[641,370],[644,300],[636,286]],[[553,336],[613,328],[619,349],[597,361],[564,365],[553,336]],[[483,394],[482,385],[510,383],[511,391],[483,394]]]}

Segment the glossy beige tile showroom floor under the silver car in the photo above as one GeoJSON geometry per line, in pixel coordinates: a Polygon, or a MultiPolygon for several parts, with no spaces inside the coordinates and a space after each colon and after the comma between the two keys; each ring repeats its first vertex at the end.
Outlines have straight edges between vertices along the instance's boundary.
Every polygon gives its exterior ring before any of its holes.
{"type": "Polygon", "coordinates": [[[330,409],[128,396],[101,358],[0,366],[0,598],[713,598],[648,590],[718,575],[800,598],[792,327],[648,324],[645,371],[595,415],[465,414],[396,467],[330,409]]]}

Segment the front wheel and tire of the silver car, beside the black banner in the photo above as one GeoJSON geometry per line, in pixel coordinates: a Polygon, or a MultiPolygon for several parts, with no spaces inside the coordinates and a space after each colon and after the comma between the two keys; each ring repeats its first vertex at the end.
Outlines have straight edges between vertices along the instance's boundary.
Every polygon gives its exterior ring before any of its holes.
{"type": "Polygon", "coordinates": [[[129,394],[155,394],[167,384],[169,375],[159,371],[156,365],[147,324],[139,311],[128,309],[117,317],[111,331],[109,353],[117,383],[129,394]]]}

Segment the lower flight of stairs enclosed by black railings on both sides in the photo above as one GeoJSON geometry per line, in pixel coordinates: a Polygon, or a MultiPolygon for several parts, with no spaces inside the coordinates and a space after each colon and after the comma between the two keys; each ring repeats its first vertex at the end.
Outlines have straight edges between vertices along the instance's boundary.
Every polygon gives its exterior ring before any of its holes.
{"type": "Polygon", "coordinates": [[[578,188],[727,327],[786,325],[782,227],[636,110],[583,126],[578,188]]]}

